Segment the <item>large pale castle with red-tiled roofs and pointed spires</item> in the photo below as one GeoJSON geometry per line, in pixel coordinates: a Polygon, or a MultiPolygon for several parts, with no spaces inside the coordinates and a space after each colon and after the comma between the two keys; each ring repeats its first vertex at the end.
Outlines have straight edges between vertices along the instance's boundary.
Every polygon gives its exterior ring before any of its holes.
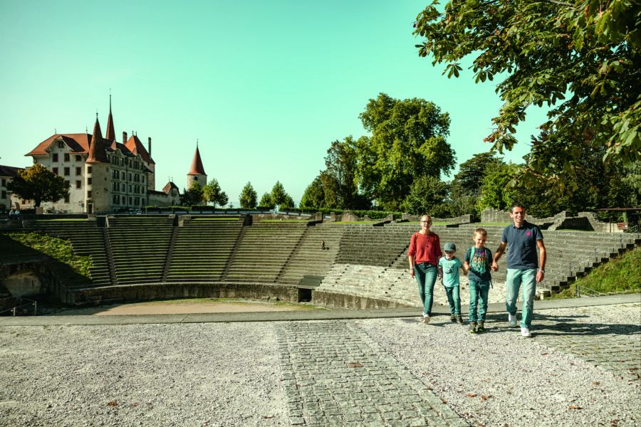
{"type": "MultiPolygon", "coordinates": [[[[162,191],[155,190],[156,164],[151,152],[151,138],[147,139],[147,148],[135,134],[127,139],[127,132],[123,132],[122,142],[116,141],[110,97],[105,137],[96,113],[92,134],[56,134],[25,155],[33,157],[34,164],[63,176],[69,184],[69,196],[44,202],[44,211],[92,214],[179,204],[179,189],[172,181],[162,191]]],[[[193,172],[204,175],[198,148],[194,163],[197,167],[192,164],[188,179],[193,172]]],[[[204,181],[206,184],[207,175],[204,181]]]]}

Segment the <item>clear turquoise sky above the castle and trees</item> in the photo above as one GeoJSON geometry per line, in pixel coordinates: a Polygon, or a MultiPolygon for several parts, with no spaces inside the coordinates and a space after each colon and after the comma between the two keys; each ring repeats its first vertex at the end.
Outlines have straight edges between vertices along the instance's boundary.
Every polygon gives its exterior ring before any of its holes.
{"type": "MultiPolygon", "coordinates": [[[[448,112],[457,164],[486,152],[501,107],[495,82],[442,75],[412,34],[429,0],[0,0],[0,164],[54,133],[152,137],[156,189],[187,186],[198,143],[208,179],[234,206],[249,181],[280,181],[298,204],[330,143],[368,135],[358,119],[379,93],[421,97],[448,112]]],[[[543,122],[528,113],[521,162],[543,122]]],[[[444,179],[452,179],[453,174],[444,179]]]]}

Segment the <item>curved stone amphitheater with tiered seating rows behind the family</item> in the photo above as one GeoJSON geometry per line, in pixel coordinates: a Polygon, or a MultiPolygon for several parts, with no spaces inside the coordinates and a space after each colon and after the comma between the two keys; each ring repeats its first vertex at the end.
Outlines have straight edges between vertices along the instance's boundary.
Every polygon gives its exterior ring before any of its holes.
{"type": "MultiPolygon", "coordinates": [[[[499,245],[503,227],[484,226],[486,246],[494,250],[499,245]]],[[[416,223],[287,221],[251,215],[24,221],[23,228],[14,231],[63,238],[71,241],[76,254],[90,256],[91,278],[59,280],[48,268],[53,260],[19,248],[0,255],[0,297],[36,288],[70,305],[220,297],[353,309],[419,307],[416,283],[407,271],[408,243],[417,228],[416,223]]],[[[433,231],[441,243],[456,243],[462,257],[474,228],[435,225],[433,231]]],[[[12,231],[5,232],[10,236],[12,231]]],[[[548,261],[537,292],[541,298],[640,243],[639,236],[630,233],[558,230],[544,231],[544,241],[548,261]]],[[[491,292],[491,302],[500,302],[504,278],[505,268],[494,273],[497,291],[491,292]]],[[[436,302],[447,304],[440,288],[436,302]]],[[[462,277],[463,300],[465,290],[462,277]]]]}

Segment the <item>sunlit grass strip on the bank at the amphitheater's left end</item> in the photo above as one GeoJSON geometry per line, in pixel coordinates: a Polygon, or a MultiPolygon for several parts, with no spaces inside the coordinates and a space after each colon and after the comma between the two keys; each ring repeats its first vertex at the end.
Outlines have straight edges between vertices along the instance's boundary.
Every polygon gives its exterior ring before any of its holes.
{"type": "MultiPolygon", "coordinates": [[[[11,233],[8,237],[24,246],[56,258],[61,263],[69,265],[75,273],[91,279],[89,273],[92,265],[91,258],[75,255],[69,241],[40,233],[11,233]]],[[[9,251],[11,251],[10,248],[9,251]]]]}

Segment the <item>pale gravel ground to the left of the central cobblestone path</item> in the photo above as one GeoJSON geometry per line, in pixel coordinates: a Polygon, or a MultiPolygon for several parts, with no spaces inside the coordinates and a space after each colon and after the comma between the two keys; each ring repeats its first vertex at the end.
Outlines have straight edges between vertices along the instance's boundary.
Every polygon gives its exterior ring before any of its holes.
{"type": "Polygon", "coordinates": [[[282,426],[272,325],[0,327],[1,426],[282,426]]]}

